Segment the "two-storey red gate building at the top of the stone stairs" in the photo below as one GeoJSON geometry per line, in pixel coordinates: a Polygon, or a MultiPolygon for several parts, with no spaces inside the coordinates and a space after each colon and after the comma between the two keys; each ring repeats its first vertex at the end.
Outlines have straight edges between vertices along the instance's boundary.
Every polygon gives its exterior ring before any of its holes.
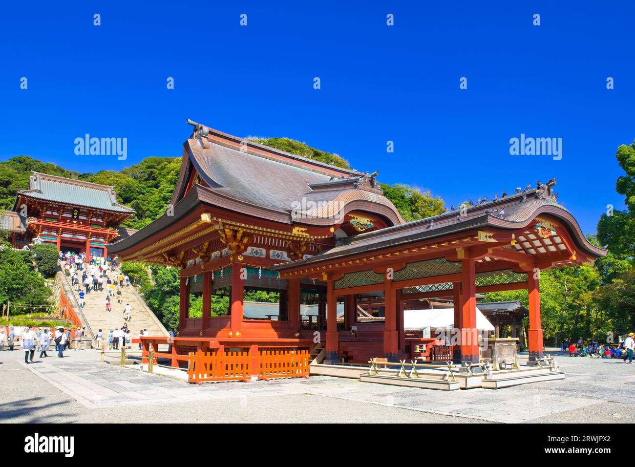
{"type": "Polygon", "coordinates": [[[34,172],[18,190],[13,210],[0,213],[0,229],[14,247],[53,243],[58,250],[107,256],[107,244],[135,232],[119,227],[133,215],[111,186],[34,172]]]}

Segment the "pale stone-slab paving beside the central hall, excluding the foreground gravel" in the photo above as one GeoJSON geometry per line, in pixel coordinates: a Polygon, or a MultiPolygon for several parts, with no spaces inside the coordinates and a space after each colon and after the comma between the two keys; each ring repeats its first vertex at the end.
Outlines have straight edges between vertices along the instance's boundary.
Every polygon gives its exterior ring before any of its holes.
{"type": "MultiPolygon", "coordinates": [[[[20,365],[84,407],[93,409],[159,403],[168,410],[167,407],[175,404],[194,403],[196,406],[213,401],[223,407],[228,403],[254,407],[254,404],[267,404],[267,400],[296,396],[311,400],[309,396],[312,396],[312,400],[344,401],[351,407],[363,404],[370,412],[379,410],[378,407],[392,407],[451,416],[463,422],[519,423],[575,417],[585,421],[587,412],[601,421],[627,422],[635,417],[632,397],[635,395],[635,365],[615,360],[561,357],[559,364],[567,372],[564,380],[448,393],[327,376],[189,385],[169,377],[100,363],[90,351],[81,354],[71,353],[64,360],[49,358],[37,365],[20,365]],[[371,409],[373,406],[377,408],[371,409]]],[[[285,410],[291,413],[295,408],[285,410]]]]}

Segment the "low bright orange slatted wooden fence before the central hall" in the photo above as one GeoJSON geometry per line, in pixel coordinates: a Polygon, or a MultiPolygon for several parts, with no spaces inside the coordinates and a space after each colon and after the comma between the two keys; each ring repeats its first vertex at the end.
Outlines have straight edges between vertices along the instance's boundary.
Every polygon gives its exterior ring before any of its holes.
{"type": "Polygon", "coordinates": [[[221,353],[197,351],[188,356],[189,382],[250,381],[258,379],[308,377],[308,350],[263,350],[221,353]]]}

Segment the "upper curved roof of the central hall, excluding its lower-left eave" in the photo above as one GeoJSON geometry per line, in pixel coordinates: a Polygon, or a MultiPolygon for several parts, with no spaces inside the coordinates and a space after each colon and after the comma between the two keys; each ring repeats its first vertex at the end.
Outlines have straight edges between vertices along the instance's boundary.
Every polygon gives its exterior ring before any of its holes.
{"type": "Polygon", "coordinates": [[[210,191],[305,224],[335,224],[355,209],[378,213],[392,225],[403,222],[374,177],[194,125],[172,205],[184,196],[193,167],[210,191]]]}

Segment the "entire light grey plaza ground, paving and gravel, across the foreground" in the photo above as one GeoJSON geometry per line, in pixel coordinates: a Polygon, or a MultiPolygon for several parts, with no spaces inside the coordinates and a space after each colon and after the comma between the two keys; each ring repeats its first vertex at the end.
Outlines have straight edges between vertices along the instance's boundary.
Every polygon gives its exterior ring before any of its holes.
{"type": "Polygon", "coordinates": [[[30,365],[23,355],[0,353],[3,423],[635,421],[635,365],[622,360],[559,356],[564,380],[446,392],[326,376],[190,385],[101,363],[97,351],[30,365]]]}

